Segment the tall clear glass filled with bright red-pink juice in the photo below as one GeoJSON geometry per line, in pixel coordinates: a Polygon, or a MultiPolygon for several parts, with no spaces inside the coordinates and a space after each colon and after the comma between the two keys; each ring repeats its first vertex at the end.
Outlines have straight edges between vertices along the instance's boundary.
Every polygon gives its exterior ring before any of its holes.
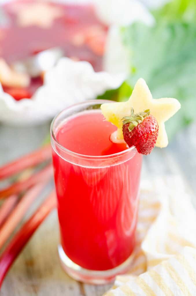
{"type": "Polygon", "coordinates": [[[60,261],[74,279],[94,284],[130,266],[142,166],[135,147],[110,141],[116,127],[101,114],[105,102],[73,105],[51,125],[60,261]]]}

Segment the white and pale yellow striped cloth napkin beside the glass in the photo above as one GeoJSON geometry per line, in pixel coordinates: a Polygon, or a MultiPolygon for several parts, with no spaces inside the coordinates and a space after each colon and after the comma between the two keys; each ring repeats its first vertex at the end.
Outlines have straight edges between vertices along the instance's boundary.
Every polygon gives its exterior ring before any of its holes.
{"type": "Polygon", "coordinates": [[[104,295],[196,295],[196,211],[181,178],[142,188],[133,263],[104,295]]]}

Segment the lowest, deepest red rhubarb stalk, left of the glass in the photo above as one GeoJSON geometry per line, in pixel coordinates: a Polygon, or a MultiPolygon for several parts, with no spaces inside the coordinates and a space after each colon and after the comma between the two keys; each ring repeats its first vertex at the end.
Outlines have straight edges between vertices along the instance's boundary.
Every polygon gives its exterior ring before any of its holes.
{"type": "Polygon", "coordinates": [[[47,215],[56,206],[55,193],[52,192],[49,197],[36,210],[31,218],[22,226],[15,237],[11,240],[8,247],[4,250],[0,257],[0,287],[6,276],[10,266],[17,258],[25,244],[36,231],[38,226],[44,221],[47,215]]]}

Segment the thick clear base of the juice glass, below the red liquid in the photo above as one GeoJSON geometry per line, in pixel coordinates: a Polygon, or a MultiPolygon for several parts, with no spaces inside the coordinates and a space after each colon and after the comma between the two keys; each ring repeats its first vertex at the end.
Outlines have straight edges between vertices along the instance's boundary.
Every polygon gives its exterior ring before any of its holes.
{"type": "Polygon", "coordinates": [[[95,284],[95,285],[101,285],[101,284],[107,284],[107,283],[113,282],[115,280],[115,277],[118,274],[124,274],[129,270],[133,260],[133,254],[132,254],[125,262],[123,262],[121,265],[115,268],[104,270],[104,271],[97,271],[97,270],[95,271],[95,270],[82,268],[79,265],[75,264],[65,254],[61,245],[58,246],[58,252],[59,252],[62,268],[66,271],[66,273],[70,277],[72,277],[77,281],[81,281],[83,283],[95,284]]]}

